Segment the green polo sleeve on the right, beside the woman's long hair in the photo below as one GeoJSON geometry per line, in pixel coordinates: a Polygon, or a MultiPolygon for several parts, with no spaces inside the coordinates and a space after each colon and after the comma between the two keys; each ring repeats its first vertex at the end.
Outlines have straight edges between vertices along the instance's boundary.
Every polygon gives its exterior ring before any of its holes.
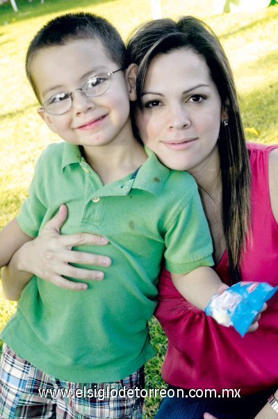
{"type": "Polygon", "coordinates": [[[213,266],[211,234],[197,188],[165,234],[165,264],[173,274],[213,266]]]}

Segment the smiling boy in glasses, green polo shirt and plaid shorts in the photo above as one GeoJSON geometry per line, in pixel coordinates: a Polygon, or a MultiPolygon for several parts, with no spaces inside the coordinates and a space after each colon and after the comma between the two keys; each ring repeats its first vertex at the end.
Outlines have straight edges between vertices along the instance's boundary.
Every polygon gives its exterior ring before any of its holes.
{"type": "Polygon", "coordinates": [[[84,292],[31,278],[1,334],[1,418],[142,417],[135,393],[109,393],[143,386],[142,365],[153,355],[147,321],[163,255],[182,288],[184,278],[184,296],[200,308],[221,284],[208,268],[211,239],[193,178],[163,166],[133,136],[134,86],[125,57],[113,26],[88,13],[57,17],[28,48],[38,113],[65,143],[49,145],[38,160],[29,198],[1,232],[1,264],[63,203],[69,216],[61,232],[104,235],[113,264],[104,280],[84,283],[84,292]],[[204,282],[208,294],[201,292],[204,282]],[[56,393],[41,397],[43,388],[56,393]],[[60,388],[72,397],[62,397],[60,388]],[[79,397],[76,389],[84,388],[105,389],[106,397],[79,397]]]}

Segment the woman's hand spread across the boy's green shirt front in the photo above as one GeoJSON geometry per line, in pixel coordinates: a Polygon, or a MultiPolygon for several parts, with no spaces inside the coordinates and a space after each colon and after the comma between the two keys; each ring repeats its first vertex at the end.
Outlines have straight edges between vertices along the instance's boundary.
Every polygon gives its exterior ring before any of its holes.
{"type": "Polygon", "coordinates": [[[22,253],[18,267],[22,271],[32,272],[36,276],[68,290],[85,290],[88,288],[85,283],[76,283],[63,278],[63,276],[82,280],[101,280],[104,278],[104,273],[74,267],[70,263],[108,267],[111,265],[111,259],[93,253],[72,251],[72,247],[81,244],[103,246],[108,244],[108,240],[103,236],[87,232],[61,235],[60,228],[66,219],[67,206],[61,205],[59,212],[48,221],[40,235],[22,246],[24,255],[22,253]]]}

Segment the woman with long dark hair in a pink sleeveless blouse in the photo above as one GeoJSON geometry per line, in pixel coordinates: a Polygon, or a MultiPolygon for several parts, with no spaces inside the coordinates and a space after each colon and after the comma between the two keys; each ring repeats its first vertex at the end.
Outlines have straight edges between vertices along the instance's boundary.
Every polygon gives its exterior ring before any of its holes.
{"type": "MultiPolygon", "coordinates": [[[[278,151],[246,147],[234,80],[218,39],[193,17],[177,24],[161,19],[141,26],[128,49],[135,63],[131,94],[138,98],[140,137],[164,164],[195,177],[213,237],[215,270],[228,284],[277,285],[278,151]]],[[[19,267],[56,283],[65,281],[62,275],[81,278],[67,264],[75,242],[57,234],[65,218],[64,209],[44,235],[15,254],[10,276],[19,267]]],[[[83,261],[89,257],[79,253],[83,261]]],[[[83,272],[82,278],[88,275],[83,272]]],[[[20,278],[17,294],[28,276],[20,278]]],[[[182,299],[164,270],[156,316],[169,345],[163,379],[176,397],[163,400],[157,418],[198,419],[206,411],[218,419],[254,418],[278,384],[277,310],[273,297],[259,330],[240,338],[182,299]],[[185,397],[177,397],[179,388],[185,397]],[[220,398],[190,398],[190,388],[213,388],[220,398]],[[222,398],[223,388],[240,398],[222,398]]]]}

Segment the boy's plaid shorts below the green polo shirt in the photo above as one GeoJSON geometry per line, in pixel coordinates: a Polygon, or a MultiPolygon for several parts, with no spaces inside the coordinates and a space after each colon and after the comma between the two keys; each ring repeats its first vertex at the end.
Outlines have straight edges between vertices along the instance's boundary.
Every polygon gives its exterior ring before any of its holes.
{"type": "Polygon", "coordinates": [[[38,370],[3,345],[1,419],[141,419],[144,367],[114,383],[61,381],[38,370]]]}

